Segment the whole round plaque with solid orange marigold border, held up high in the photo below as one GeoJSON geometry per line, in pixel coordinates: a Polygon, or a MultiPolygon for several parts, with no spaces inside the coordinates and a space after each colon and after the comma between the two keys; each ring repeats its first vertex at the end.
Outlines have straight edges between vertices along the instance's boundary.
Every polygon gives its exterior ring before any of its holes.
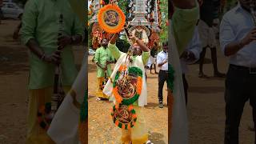
{"type": "Polygon", "coordinates": [[[126,16],[115,4],[103,6],[98,11],[98,24],[107,33],[118,33],[126,23],[126,16]]]}

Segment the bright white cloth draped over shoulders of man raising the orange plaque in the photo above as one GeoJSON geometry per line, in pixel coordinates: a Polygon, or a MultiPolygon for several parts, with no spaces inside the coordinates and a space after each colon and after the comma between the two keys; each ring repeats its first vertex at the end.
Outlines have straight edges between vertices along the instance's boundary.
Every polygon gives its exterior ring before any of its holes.
{"type": "MultiPolygon", "coordinates": [[[[110,76],[110,78],[113,81],[114,81],[115,75],[116,75],[119,67],[126,62],[126,56],[127,56],[127,54],[122,53],[120,58],[118,58],[118,62],[116,62],[115,66],[114,66],[113,73],[110,76]]],[[[142,62],[142,56],[137,56],[134,59],[134,61],[131,63],[130,66],[136,66],[142,70],[142,74],[143,74],[143,76],[142,76],[142,93],[138,98],[138,106],[146,106],[147,105],[146,77],[145,77],[144,65],[142,62]]],[[[113,83],[109,79],[108,82],[106,83],[106,86],[103,89],[103,93],[108,95],[110,97],[110,100],[113,100],[115,103],[115,98],[112,93],[112,90],[113,90],[113,83]]]]}

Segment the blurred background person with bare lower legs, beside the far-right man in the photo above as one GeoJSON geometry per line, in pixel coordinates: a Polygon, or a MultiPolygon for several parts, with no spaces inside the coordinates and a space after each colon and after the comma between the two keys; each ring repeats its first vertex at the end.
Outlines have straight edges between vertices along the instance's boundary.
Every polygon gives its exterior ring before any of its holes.
{"type": "Polygon", "coordinates": [[[199,59],[199,78],[209,78],[203,73],[203,64],[206,56],[206,48],[210,48],[211,59],[214,66],[214,77],[225,77],[218,71],[217,62],[217,42],[214,26],[218,26],[218,13],[220,10],[220,0],[203,0],[200,7],[200,20],[198,22],[198,30],[202,41],[202,53],[199,59]]]}

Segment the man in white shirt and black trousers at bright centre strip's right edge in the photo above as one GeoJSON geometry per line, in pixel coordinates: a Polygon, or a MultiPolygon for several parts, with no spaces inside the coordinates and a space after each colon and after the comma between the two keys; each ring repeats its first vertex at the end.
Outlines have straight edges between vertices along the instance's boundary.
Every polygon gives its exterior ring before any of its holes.
{"type": "Polygon", "coordinates": [[[167,83],[167,78],[168,78],[168,42],[162,43],[162,51],[158,53],[158,56],[157,56],[157,65],[160,68],[160,71],[158,74],[158,101],[159,101],[159,107],[163,108],[162,88],[165,82],[167,83]]]}

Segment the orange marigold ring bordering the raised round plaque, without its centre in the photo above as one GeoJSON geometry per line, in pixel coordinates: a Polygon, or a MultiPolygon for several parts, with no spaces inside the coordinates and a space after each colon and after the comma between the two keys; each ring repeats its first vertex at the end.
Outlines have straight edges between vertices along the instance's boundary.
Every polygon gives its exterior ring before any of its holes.
{"type": "Polygon", "coordinates": [[[123,14],[122,10],[117,6],[117,5],[106,5],[103,6],[99,11],[98,11],[98,24],[99,26],[102,27],[103,30],[105,30],[107,33],[115,34],[118,33],[122,30],[123,26],[126,23],[126,16],[123,14]],[[109,26],[106,24],[104,18],[106,11],[108,10],[113,10],[118,13],[118,25],[117,26],[109,26]]]}

